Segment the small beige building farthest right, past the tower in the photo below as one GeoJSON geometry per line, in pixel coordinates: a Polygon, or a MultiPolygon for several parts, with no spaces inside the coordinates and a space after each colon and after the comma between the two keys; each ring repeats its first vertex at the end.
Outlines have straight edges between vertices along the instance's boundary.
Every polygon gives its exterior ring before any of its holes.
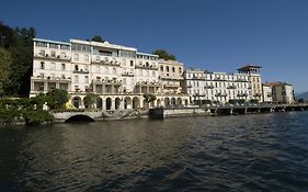
{"type": "Polygon", "coordinates": [[[286,82],[271,82],[272,87],[273,102],[275,103],[294,103],[294,89],[293,86],[286,82]]]}

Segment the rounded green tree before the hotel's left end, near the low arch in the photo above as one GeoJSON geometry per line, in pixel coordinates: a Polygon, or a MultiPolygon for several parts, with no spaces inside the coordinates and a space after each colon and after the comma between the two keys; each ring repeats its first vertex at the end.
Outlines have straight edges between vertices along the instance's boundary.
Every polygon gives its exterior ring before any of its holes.
{"type": "Polygon", "coordinates": [[[46,101],[52,110],[64,109],[65,103],[68,102],[68,92],[60,89],[54,89],[47,92],[46,101]]]}

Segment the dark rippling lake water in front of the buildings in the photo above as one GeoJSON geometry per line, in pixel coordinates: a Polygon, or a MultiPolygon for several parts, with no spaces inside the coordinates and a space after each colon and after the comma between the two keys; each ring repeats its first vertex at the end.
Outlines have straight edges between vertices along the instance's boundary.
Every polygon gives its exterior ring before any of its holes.
{"type": "Polygon", "coordinates": [[[308,191],[308,112],[0,129],[0,191],[308,191]]]}

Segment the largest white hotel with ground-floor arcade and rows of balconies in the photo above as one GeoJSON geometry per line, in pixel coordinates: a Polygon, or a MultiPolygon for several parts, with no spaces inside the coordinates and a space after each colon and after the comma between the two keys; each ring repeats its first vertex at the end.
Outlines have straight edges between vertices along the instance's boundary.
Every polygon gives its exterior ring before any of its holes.
{"type": "Polygon", "coordinates": [[[164,101],[173,100],[175,105],[187,105],[187,95],[163,94],[158,69],[157,55],[138,53],[134,47],[34,38],[30,97],[57,88],[68,91],[76,108],[87,106],[83,98],[88,93],[99,95],[96,108],[102,110],[148,106],[145,93],[157,97],[150,106],[163,106],[164,101]]]}

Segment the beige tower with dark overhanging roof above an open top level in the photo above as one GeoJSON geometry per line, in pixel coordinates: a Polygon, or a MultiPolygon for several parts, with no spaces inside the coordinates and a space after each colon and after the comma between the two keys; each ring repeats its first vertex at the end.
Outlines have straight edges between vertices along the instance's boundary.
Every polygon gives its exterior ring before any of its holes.
{"type": "Polygon", "coordinates": [[[251,82],[250,99],[258,100],[259,102],[263,102],[260,68],[261,68],[261,66],[247,65],[247,66],[239,68],[238,71],[239,71],[239,74],[249,75],[249,80],[251,82]]]}

